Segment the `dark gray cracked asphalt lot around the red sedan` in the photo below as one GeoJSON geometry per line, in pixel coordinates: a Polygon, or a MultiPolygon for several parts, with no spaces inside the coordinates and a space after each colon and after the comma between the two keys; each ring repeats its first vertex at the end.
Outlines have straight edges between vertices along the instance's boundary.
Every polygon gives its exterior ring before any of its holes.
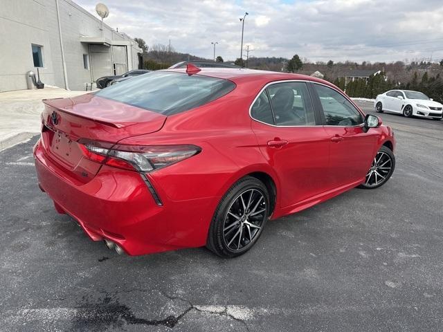
{"type": "Polygon", "coordinates": [[[236,259],[118,256],[40,192],[37,138],[0,152],[0,331],[442,331],[443,121],[381,117],[386,185],[268,223],[236,259]]]}

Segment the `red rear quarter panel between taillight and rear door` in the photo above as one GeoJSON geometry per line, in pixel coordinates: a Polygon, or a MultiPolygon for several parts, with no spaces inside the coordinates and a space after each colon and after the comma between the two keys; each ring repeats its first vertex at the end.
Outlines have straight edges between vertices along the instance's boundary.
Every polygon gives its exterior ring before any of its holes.
{"type": "Polygon", "coordinates": [[[275,178],[257,147],[248,113],[261,87],[257,83],[239,84],[228,95],[204,107],[168,117],[161,131],[126,138],[119,143],[201,147],[197,156],[150,174],[172,201],[219,198],[250,172],[266,172],[275,178]]]}

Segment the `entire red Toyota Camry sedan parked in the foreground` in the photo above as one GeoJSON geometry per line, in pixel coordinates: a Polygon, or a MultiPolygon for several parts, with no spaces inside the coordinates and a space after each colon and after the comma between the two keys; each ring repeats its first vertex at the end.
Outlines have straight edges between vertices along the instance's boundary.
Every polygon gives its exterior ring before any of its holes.
{"type": "Polygon", "coordinates": [[[380,187],[395,168],[392,129],[314,77],[189,64],[44,104],[39,187],[129,255],[235,257],[269,219],[380,187]]]}

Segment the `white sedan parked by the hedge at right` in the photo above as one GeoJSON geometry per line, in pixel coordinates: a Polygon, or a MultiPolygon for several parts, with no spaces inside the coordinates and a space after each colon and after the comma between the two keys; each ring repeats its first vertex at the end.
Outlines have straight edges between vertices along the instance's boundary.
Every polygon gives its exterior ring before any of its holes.
{"type": "Polygon", "coordinates": [[[443,105],[434,102],[427,95],[418,91],[391,90],[377,95],[374,102],[375,111],[402,113],[406,117],[422,116],[440,120],[443,105]]]}

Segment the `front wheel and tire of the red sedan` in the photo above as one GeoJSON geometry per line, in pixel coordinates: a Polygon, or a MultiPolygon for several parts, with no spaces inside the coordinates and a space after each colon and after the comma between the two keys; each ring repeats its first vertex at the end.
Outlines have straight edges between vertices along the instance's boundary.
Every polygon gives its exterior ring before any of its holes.
{"type": "Polygon", "coordinates": [[[388,182],[395,169],[395,156],[384,145],[379,149],[366,174],[365,183],[359,185],[362,189],[375,189],[388,182]],[[378,166],[377,166],[378,165],[378,166]],[[381,178],[381,181],[377,181],[381,178]]]}

